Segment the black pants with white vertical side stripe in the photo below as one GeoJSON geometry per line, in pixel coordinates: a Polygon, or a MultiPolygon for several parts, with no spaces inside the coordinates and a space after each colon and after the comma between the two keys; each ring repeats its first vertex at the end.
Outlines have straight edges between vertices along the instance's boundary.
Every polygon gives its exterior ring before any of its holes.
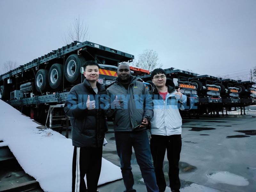
{"type": "Polygon", "coordinates": [[[72,192],[96,192],[101,170],[102,147],[74,147],[72,164],[72,192]]]}

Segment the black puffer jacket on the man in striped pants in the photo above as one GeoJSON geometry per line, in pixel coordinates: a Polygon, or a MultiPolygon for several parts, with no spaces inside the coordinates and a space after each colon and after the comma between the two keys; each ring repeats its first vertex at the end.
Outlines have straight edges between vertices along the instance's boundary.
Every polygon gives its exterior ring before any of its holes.
{"type": "Polygon", "coordinates": [[[106,116],[100,106],[100,96],[106,94],[105,87],[97,82],[98,94],[90,83],[75,85],[69,92],[64,110],[72,125],[72,143],[76,147],[102,147],[107,131],[106,116]],[[86,101],[95,100],[95,109],[88,110],[86,101]]]}

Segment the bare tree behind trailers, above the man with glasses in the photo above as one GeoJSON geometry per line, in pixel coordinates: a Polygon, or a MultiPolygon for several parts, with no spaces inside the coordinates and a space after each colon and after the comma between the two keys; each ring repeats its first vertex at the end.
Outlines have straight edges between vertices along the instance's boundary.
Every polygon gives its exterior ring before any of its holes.
{"type": "Polygon", "coordinates": [[[139,55],[138,61],[135,62],[136,67],[153,71],[155,68],[161,68],[163,65],[158,62],[159,58],[155,51],[146,49],[139,55]]]}

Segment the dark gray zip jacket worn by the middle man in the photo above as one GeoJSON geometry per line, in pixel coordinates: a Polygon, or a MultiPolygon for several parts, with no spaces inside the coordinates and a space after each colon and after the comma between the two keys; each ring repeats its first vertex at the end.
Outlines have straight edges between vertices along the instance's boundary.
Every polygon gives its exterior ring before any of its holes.
{"type": "MultiPolygon", "coordinates": [[[[108,98],[109,108],[106,114],[107,116],[114,115],[114,131],[133,131],[136,126],[141,124],[143,118],[147,118],[148,120],[152,118],[153,102],[151,96],[138,77],[131,76],[128,91],[118,81],[118,78],[114,80],[115,82],[107,88],[110,98],[108,98]],[[120,100],[121,108],[113,110],[110,108],[110,104],[115,100],[116,95],[117,99],[120,100]]],[[[143,127],[136,129],[136,131],[145,129],[146,127],[143,127]]]]}

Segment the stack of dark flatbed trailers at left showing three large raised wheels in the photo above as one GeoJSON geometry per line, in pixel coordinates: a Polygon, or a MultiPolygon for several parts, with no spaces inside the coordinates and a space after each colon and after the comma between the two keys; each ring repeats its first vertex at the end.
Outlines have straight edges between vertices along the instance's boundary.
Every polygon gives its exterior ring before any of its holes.
{"type": "MultiPolygon", "coordinates": [[[[134,56],[89,41],[68,44],[0,76],[0,99],[43,123],[50,105],[63,104],[69,90],[84,80],[83,64],[100,64],[99,82],[113,83],[120,62],[134,56]]],[[[148,72],[149,73],[149,72],[148,72]]],[[[65,119],[63,108],[56,108],[57,120],[65,119]]]]}

